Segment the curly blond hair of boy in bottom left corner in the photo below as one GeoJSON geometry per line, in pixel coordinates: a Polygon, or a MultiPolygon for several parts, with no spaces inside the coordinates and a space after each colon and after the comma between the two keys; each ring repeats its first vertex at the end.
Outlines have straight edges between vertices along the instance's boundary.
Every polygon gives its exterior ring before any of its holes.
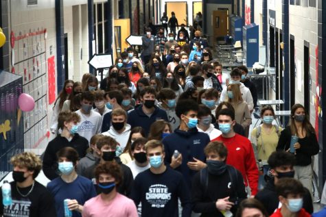
{"type": "Polygon", "coordinates": [[[19,166],[20,168],[27,168],[29,171],[34,171],[33,179],[38,176],[40,170],[42,169],[42,162],[40,157],[36,156],[36,154],[32,152],[23,152],[17,155],[14,155],[10,159],[10,163],[12,166],[19,166]]]}

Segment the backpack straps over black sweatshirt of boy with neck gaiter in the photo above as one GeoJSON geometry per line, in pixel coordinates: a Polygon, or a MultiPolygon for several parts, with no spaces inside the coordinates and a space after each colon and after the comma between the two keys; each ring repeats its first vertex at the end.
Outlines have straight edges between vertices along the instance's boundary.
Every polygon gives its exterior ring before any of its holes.
{"type": "MultiPolygon", "coordinates": [[[[239,201],[239,196],[237,195],[237,190],[238,190],[237,189],[237,177],[238,177],[237,170],[233,166],[230,166],[230,165],[226,165],[226,170],[229,173],[231,187],[232,188],[234,187],[233,190],[235,192],[235,199],[236,199],[236,201],[239,201]]],[[[207,188],[208,188],[208,178],[209,178],[207,167],[200,170],[199,173],[200,173],[200,185],[204,186],[204,188],[205,188],[204,193],[206,194],[207,188]]]]}

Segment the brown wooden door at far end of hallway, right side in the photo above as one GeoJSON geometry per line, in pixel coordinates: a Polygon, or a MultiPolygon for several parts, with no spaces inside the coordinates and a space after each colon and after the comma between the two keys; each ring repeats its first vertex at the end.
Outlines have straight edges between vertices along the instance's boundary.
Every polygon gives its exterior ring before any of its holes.
{"type": "Polygon", "coordinates": [[[227,35],[227,19],[228,19],[228,12],[227,10],[214,10],[213,11],[213,29],[214,29],[214,36],[217,37],[224,37],[227,35]]]}

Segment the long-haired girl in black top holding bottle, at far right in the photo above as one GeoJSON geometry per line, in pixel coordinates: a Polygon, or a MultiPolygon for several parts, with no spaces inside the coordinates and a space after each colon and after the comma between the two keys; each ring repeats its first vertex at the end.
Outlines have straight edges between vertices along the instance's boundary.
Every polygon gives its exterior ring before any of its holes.
{"type": "Polygon", "coordinates": [[[295,154],[296,174],[294,178],[299,179],[303,186],[312,192],[312,156],[318,154],[319,144],[316,131],[303,105],[294,104],[291,107],[290,122],[288,127],[281,132],[277,150],[290,151],[295,154]],[[290,147],[292,138],[296,138],[294,150],[290,147]]]}

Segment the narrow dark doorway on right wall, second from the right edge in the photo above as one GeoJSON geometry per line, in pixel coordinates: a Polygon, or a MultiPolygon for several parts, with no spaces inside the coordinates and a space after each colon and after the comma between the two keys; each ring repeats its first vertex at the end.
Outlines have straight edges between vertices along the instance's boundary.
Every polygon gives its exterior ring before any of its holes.
{"type": "Polygon", "coordinates": [[[290,106],[295,103],[294,36],[290,35],[290,106]]]}

